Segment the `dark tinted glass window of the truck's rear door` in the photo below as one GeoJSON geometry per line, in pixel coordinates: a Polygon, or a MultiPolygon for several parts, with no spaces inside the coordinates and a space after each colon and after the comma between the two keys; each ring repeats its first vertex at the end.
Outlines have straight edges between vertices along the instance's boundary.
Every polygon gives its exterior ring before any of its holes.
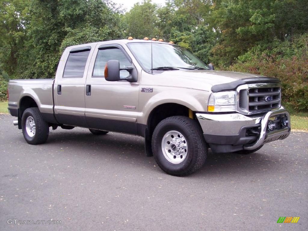
{"type": "Polygon", "coordinates": [[[63,78],[82,78],[90,51],[71,52],[67,58],[63,78]]]}

